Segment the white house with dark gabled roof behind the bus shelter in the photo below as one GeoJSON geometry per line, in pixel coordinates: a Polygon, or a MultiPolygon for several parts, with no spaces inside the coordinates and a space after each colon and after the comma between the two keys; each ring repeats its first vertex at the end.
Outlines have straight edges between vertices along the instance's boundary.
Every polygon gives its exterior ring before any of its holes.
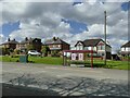
{"type": "MultiPolygon", "coordinates": [[[[79,40],[75,45],[76,50],[95,50],[98,56],[105,56],[105,41],[103,39],[86,39],[83,41],[79,40]]],[[[106,59],[112,58],[112,47],[106,44],[106,59]]]]}

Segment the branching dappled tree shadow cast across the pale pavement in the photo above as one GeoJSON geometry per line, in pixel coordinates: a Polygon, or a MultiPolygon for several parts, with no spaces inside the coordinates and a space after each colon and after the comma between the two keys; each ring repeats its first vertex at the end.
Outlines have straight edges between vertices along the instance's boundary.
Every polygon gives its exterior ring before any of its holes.
{"type": "Polygon", "coordinates": [[[10,79],[9,83],[26,88],[35,86],[41,89],[42,95],[49,91],[49,96],[126,96],[127,98],[129,95],[127,82],[119,82],[110,78],[42,77],[36,79],[35,76],[30,74],[24,74],[20,77],[10,79]]]}

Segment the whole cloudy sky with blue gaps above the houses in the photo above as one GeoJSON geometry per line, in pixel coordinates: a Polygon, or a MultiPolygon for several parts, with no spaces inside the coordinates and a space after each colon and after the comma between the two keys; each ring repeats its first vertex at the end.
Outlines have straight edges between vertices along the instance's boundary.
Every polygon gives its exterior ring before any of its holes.
{"type": "Polygon", "coordinates": [[[0,44],[9,37],[17,41],[37,37],[44,42],[55,36],[74,47],[78,40],[104,39],[104,11],[112,51],[128,41],[128,0],[22,1],[0,0],[0,44]]]}

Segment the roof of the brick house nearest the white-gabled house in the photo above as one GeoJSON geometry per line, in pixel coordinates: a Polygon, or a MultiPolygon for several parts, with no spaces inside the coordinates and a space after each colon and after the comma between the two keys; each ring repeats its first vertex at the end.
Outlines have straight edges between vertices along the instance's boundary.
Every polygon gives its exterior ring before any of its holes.
{"type": "MultiPolygon", "coordinates": [[[[57,44],[67,44],[67,42],[60,38],[52,38],[52,39],[44,41],[44,45],[57,45],[57,44]]],[[[69,45],[69,44],[67,44],[67,45],[69,45]]]]}

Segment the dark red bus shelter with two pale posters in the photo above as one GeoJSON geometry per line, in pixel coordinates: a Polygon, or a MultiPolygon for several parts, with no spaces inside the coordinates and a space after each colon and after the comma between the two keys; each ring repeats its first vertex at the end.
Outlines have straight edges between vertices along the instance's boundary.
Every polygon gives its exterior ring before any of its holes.
{"type": "Polygon", "coordinates": [[[69,65],[68,61],[90,61],[91,68],[93,68],[93,54],[96,54],[94,50],[64,50],[63,51],[63,65],[69,65]]]}

